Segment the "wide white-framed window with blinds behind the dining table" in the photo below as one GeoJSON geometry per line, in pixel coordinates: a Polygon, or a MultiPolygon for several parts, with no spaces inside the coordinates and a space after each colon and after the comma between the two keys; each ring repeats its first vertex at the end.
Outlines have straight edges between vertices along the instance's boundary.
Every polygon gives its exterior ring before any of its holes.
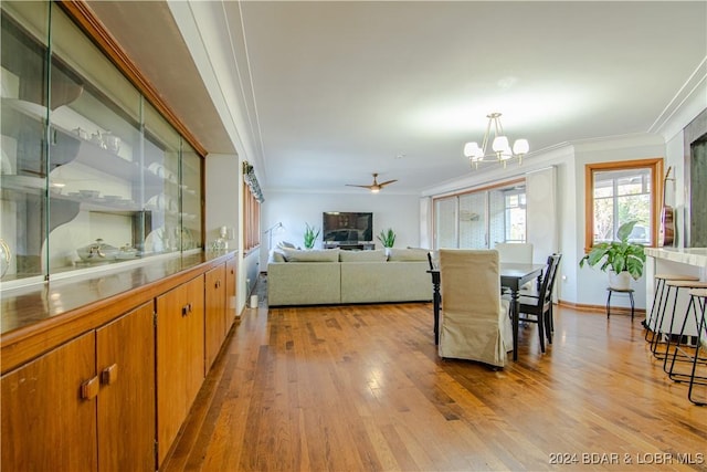
{"type": "Polygon", "coordinates": [[[526,241],[525,180],[434,200],[434,248],[488,249],[526,241]]]}

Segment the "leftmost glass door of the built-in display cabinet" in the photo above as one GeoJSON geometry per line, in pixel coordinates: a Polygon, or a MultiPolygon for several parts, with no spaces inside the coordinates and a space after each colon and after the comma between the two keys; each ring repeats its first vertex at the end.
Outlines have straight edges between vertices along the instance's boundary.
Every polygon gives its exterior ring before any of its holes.
{"type": "Polygon", "coordinates": [[[3,281],[43,277],[49,4],[2,8],[0,263],[3,281]]]}

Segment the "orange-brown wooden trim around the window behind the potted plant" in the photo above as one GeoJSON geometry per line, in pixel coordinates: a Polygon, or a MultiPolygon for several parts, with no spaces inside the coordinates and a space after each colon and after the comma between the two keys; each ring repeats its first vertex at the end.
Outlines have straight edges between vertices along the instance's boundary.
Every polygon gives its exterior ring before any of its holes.
{"type": "Polygon", "coordinates": [[[595,170],[622,170],[643,167],[652,168],[651,180],[651,247],[657,247],[658,231],[661,228],[661,209],[663,206],[663,158],[618,160],[613,162],[587,164],[584,166],[584,253],[592,249],[594,241],[594,171],[595,170]]]}

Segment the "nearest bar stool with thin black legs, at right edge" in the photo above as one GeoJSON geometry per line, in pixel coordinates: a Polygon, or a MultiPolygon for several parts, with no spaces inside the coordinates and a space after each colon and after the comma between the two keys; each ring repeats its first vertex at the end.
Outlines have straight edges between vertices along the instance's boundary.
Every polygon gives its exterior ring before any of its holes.
{"type": "Polygon", "coordinates": [[[689,387],[687,390],[687,398],[695,405],[707,405],[705,400],[696,400],[693,398],[693,390],[696,385],[707,386],[707,376],[697,375],[697,366],[704,365],[707,366],[707,353],[701,357],[699,355],[700,349],[707,350],[707,324],[705,310],[707,307],[707,289],[693,289],[689,291],[690,300],[687,305],[687,311],[685,312],[685,319],[683,321],[683,326],[680,327],[680,335],[678,337],[677,344],[675,345],[671,368],[667,370],[668,376],[675,381],[689,381],[689,387]],[[690,354],[690,347],[682,347],[683,335],[685,333],[685,325],[687,324],[688,316],[693,314],[695,317],[695,323],[697,326],[697,343],[695,344],[695,353],[690,354]],[[675,361],[677,360],[677,353],[682,352],[684,356],[686,356],[692,364],[690,373],[678,373],[675,370],[675,361]]]}

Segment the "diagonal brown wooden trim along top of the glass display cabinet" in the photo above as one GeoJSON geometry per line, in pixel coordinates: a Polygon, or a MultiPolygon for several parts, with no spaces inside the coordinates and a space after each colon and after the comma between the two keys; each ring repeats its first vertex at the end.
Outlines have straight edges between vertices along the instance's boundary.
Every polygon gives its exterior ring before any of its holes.
{"type": "Polygon", "coordinates": [[[147,101],[172,125],[202,158],[207,149],[187,128],[177,114],[162,101],[157,88],[145,77],[125,50],[105,25],[96,18],[84,0],[57,0],[56,2],[81,30],[108,56],[116,67],[137,87],[147,101]]]}

